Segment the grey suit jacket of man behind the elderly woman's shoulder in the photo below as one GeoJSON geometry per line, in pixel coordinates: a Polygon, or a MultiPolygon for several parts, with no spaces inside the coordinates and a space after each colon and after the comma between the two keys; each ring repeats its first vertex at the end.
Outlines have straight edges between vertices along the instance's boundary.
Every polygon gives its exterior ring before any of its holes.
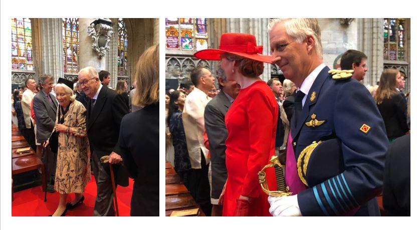
{"type": "Polygon", "coordinates": [[[33,98],[33,110],[36,118],[36,139],[39,143],[46,141],[55,127],[57,119],[58,101],[54,95],[49,94],[52,103],[49,102],[43,91],[33,98]]]}

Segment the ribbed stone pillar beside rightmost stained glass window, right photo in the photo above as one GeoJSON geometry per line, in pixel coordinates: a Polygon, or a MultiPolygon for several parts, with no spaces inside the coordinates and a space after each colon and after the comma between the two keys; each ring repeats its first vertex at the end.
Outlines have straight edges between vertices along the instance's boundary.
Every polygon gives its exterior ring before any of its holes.
{"type": "Polygon", "coordinates": [[[383,71],[383,19],[358,20],[358,47],[368,60],[368,71],[362,83],[376,85],[383,71]]]}

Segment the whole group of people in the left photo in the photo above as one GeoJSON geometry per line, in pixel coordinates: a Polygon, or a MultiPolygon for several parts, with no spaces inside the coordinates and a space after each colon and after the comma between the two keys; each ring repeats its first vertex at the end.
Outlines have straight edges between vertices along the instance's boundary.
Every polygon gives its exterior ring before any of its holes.
{"type": "Polygon", "coordinates": [[[85,199],[91,179],[97,185],[93,216],[114,216],[114,190],[134,179],[130,214],[159,215],[159,45],[139,58],[135,89],[93,67],[80,70],[78,81],[42,74],[40,87],[27,79],[13,92],[12,119],[47,168],[48,192],[59,192],[57,209],[64,216],[85,199]],[[22,92],[23,91],[23,92],[22,92]],[[133,92],[132,92],[133,91],[133,92]],[[114,171],[114,180],[113,172],[114,171]],[[67,202],[68,194],[75,198],[67,202]]]}

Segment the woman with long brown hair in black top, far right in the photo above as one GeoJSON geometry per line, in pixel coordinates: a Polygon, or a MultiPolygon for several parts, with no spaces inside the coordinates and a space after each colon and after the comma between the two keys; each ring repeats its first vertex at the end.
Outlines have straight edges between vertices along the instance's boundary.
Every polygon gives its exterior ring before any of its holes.
{"type": "Polygon", "coordinates": [[[409,133],[406,103],[396,89],[400,81],[401,75],[398,70],[385,69],[374,96],[390,143],[395,138],[409,133]]]}

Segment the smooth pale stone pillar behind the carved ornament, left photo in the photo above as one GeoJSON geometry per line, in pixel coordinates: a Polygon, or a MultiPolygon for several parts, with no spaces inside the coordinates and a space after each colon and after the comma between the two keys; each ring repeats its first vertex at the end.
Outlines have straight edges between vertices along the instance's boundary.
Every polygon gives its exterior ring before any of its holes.
{"type": "Polygon", "coordinates": [[[97,72],[100,72],[101,70],[107,69],[106,56],[101,59],[98,57],[97,53],[91,48],[93,41],[87,33],[87,27],[90,26],[90,24],[95,20],[96,19],[78,19],[78,28],[80,33],[79,67],[81,70],[85,67],[92,66],[97,70],[97,72]]]}

